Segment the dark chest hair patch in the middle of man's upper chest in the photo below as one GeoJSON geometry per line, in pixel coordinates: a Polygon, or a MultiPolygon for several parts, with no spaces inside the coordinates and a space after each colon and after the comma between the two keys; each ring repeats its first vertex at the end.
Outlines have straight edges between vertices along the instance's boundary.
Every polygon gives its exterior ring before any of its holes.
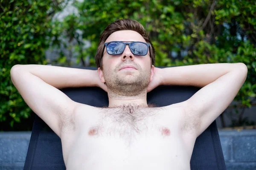
{"type": "Polygon", "coordinates": [[[131,139],[136,135],[146,133],[154,119],[159,115],[160,110],[160,108],[140,108],[132,105],[123,105],[118,108],[101,108],[99,121],[90,130],[95,135],[131,139]]]}

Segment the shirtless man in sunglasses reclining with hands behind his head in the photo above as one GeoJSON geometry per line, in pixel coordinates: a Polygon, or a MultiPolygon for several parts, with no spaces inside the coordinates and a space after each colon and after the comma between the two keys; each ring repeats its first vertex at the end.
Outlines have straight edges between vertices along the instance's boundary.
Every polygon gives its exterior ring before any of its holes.
{"type": "Polygon", "coordinates": [[[134,20],[118,20],[105,29],[96,66],[96,71],[49,65],[11,70],[27,105],[61,138],[67,170],[189,170],[195,139],[233,101],[247,77],[243,63],[154,67],[152,44],[134,20]],[[184,102],[149,106],[147,92],[158,85],[201,90],[184,102]],[[74,102],[58,90],[84,86],[107,91],[109,106],[74,102]]]}

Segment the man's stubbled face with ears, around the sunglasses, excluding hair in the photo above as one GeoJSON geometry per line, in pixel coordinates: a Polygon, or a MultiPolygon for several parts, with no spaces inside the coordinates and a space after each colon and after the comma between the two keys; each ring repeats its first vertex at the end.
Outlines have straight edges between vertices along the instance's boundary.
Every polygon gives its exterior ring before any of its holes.
{"type": "MultiPolygon", "coordinates": [[[[124,30],[111,34],[106,42],[110,41],[141,41],[144,38],[136,31],[124,30]]],[[[119,55],[109,55],[104,48],[103,70],[98,68],[99,77],[105,82],[108,89],[115,94],[122,96],[136,96],[148,87],[153,78],[154,65],[151,68],[151,59],[148,54],[145,56],[134,55],[128,45],[119,55]],[[121,69],[125,65],[132,65],[136,69],[121,69]]]]}

